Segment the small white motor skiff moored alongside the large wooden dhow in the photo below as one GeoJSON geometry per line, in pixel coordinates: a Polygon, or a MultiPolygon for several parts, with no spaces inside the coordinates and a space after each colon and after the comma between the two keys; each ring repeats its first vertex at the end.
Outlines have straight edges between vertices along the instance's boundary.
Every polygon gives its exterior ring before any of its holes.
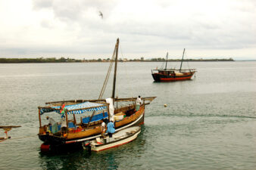
{"type": "Polygon", "coordinates": [[[112,147],[119,147],[120,145],[127,144],[130,141],[135,140],[140,131],[140,126],[124,128],[123,130],[114,133],[112,138],[109,138],[108,136],[105,138],[96,138],[95,140],[90,141],[89,145],[91,146],[91,150],[96,152],[108,150],[112,147]]]}

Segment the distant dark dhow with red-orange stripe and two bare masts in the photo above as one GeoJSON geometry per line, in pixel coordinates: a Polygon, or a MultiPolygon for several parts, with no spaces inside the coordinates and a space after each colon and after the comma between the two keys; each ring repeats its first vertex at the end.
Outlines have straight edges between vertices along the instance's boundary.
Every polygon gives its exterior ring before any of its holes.
{"type": "MultiPolygon", "coordinates": [[[[184,53],[185,53],[185,48],[183,51],[183,57],[184,57],[184,53]]],[[[192,76],[196,72],[195,69],[182,70],[183,59],[181,60],[179,70],[167,69],[168,53],[166,58],[167,59],[166,59],[164,69],[151,70],[151,74],[155,82],[174,82],[174,81],[181,81],[181,80],[189,80],[192,78],[192,76]]]]}

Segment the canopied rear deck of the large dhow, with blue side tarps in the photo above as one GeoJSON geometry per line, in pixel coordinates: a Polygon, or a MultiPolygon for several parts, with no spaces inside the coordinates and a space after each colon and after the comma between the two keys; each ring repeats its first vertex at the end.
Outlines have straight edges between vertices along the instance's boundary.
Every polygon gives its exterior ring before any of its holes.
{"type": "MultiPolygon", "coordinates": [[[[49,107],[39,107],[39,134],[55,134],[61,136],[61,117],[66,119],[67,133],[82,131],[83,128],[93,126],[101,122],[101,119],[108,119],[108,104],[83,102],[79,104],[64,103],[49,107]],[[64,111],[61,113],[61,110],[64,111]],[[45,113],[57,113],[57,116],[47,114],[50,119],[57,122],[54,125],[42,125],[42,115],[45,113]]],[[[46,118],[46,116],[45,116],[46,118]]],[[[44,121],[45,122],[45,121],[44,121]]]]}

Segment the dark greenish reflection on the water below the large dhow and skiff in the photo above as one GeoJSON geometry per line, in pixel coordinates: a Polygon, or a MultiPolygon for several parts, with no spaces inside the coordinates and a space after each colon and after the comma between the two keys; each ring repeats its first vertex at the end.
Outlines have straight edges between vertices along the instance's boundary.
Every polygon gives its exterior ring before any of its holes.
{"type": "MultiPolygon", "coordinates": [[[[111,148],[98,153],[76,148],[76,150],[55,150],[50,153],[39,153],[39,164],[42,169],[117,169],[127,159],[138,159],[145,147],[142,132],[135,141],[120,147],[111,148]]],[[[143,151],[144,150],[144,151],[143,151]]],[[[129,168],[128,165],[126,168],[129,168]]]]}

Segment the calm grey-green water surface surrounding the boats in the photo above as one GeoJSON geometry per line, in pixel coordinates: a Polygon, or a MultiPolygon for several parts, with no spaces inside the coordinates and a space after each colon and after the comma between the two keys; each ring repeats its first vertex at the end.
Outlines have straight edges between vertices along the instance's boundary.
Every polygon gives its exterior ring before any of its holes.
{"type": "Polygon", "coordinates": [[[0,169],[256,169],[256,62],[192,62],[195,78],[167,83],[151,77],[162,63],[119,63],[118,97],[157,96],[139,138],[100,153],[41,153],[37,107],[98,98],[108,65],[0,64],[0,125],[22,125],[0,143],[0,169]]]}

